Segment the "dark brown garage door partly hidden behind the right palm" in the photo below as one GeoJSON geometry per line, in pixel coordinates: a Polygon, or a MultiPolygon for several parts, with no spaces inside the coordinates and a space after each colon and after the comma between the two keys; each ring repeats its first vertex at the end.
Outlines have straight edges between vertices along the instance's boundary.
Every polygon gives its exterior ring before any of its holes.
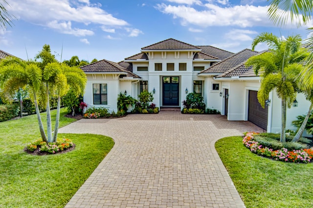
{"type": "Polygon", "coordinates": [[[262,108],[257,97],[257,91],[249,90],[248,121],[258,127],[267,130],[268,127],[268,106],[262,108]]]}

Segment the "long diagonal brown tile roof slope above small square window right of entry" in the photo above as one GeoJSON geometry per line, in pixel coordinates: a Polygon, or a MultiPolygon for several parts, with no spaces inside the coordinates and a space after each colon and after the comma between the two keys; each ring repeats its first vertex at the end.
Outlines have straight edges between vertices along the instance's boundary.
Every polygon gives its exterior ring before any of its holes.
{"type": "Polygon", "coordinates": [[[201,71],[199,74],[205,73],[225,73],[228,70],[236,67],[237,65],[245,62],[249,57],[257,55],[258,52],[245,49],[243,51],[234,54],[231,57],[224,59],[223,61],[210,66],[209,68],[201,71]]]}

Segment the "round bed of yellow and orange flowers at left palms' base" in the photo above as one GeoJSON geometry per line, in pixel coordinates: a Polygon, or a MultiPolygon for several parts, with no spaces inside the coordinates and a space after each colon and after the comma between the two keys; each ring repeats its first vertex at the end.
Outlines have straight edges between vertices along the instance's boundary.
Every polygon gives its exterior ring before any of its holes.
{"type": "Polygon", "coordinates": [[[74,144],[70,139],[58,139],[57,142],[46,143],[41,139],[28,144],[25,151],[34,154],[56,154],[67,150],[72,150],[74,144]]]}

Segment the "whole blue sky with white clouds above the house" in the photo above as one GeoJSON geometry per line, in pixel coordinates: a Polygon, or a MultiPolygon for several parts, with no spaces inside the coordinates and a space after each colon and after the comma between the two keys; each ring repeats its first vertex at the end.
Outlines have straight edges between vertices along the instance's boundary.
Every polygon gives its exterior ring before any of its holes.
{"type": "MultiPolygon", "coordinates": [[[[0,49],[27,59],[49,44],[60,60],[78,56],[121,61],[144,46],[175,38],[239,52],[262,32],[308,37],[267,16],[267,0],[7,0],[16,19],[0,31],[0,49]],[[63,45],[63,52],[62,52],[63,45]]],[[[264,50],[260,45],[256,50],[264,50]]]]}

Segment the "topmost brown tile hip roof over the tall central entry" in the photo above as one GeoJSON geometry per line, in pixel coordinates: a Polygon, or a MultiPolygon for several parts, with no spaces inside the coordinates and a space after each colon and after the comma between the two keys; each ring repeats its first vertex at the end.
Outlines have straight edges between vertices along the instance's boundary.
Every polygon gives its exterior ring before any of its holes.
{"type": "Polygon", "coordinates": [[[169,38],[152,45],[141,48],[141,50],[200,50],[200,47],[169,38]]]}

